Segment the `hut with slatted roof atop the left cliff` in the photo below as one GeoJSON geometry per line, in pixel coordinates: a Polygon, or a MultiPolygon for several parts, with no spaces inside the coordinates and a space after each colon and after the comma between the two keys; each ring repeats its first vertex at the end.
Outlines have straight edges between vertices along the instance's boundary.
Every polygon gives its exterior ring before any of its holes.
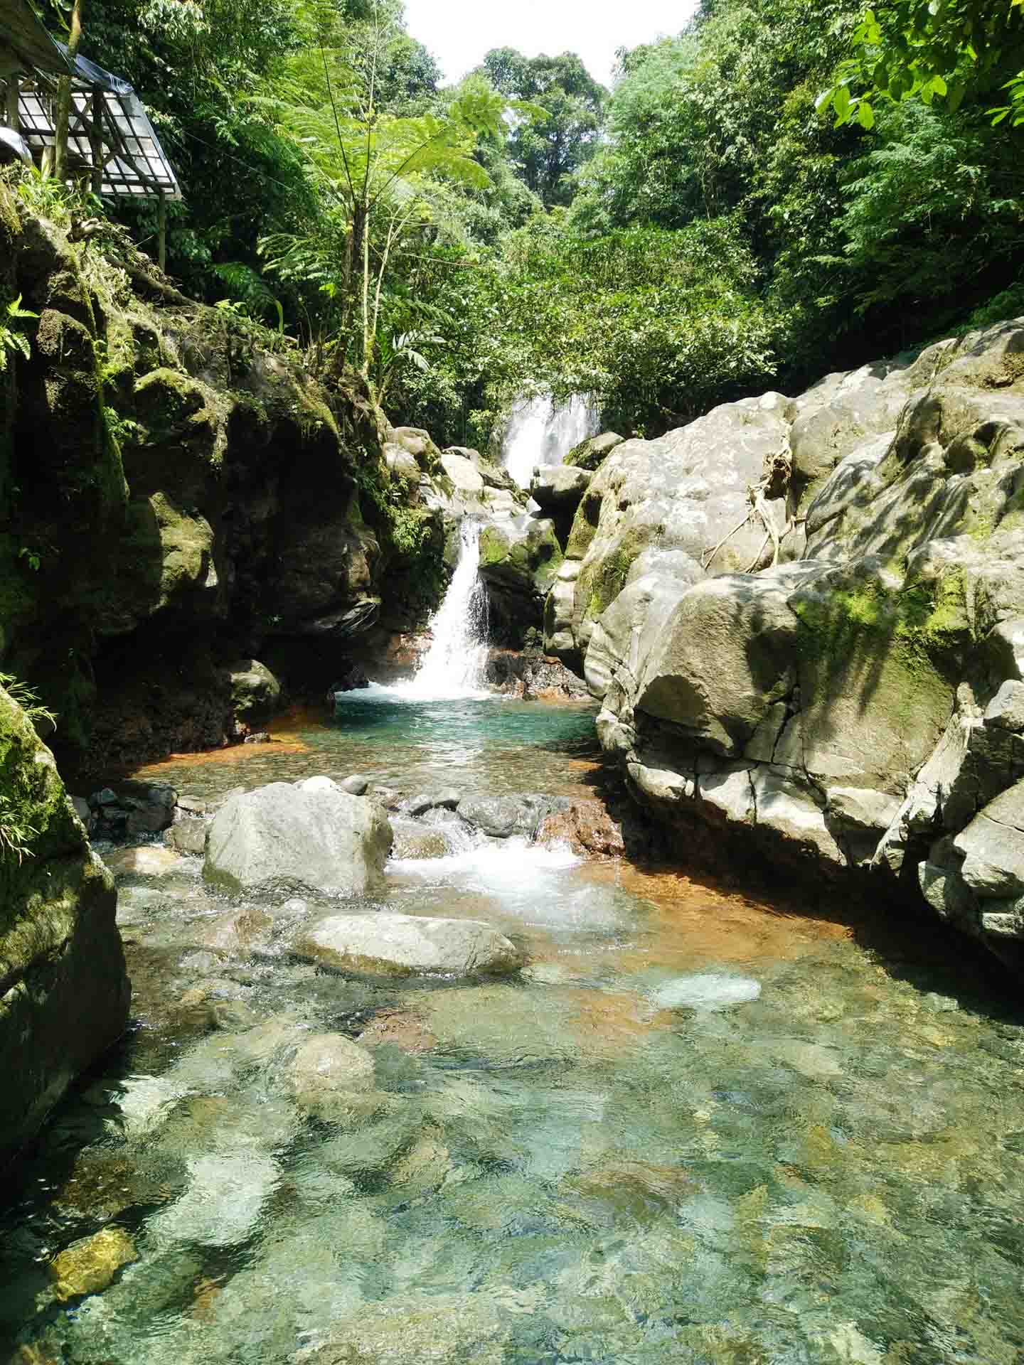
{"type": "Polygon", "coordinates": [[[42,165],[56,141],[57,82],[71,79],[68,177],[97,195],[158,201],[158,255],[165,265],[167,202],[182,190],[127,81],[85,57],[71,60],[46,31],[30,0],[0,0],[0,120],[3,147],[42,165]]]}

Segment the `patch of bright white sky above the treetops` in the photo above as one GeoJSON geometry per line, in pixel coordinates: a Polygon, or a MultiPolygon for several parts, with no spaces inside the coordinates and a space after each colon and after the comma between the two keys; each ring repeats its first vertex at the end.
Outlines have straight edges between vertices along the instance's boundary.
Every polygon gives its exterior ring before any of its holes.
{"type": "Polygon", "coordinates": [[[406,22],[448,81],[492,48],[517,48],[527,57],[578,52],[609,85],[617,48],[679,33],[695,8],[695,0],[406,0],[406,22]]]}

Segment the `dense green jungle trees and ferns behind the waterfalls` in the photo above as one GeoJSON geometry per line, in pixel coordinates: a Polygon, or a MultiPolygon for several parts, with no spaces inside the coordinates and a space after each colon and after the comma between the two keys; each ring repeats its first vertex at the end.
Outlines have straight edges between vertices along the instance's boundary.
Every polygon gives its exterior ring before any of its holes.
{"type": "Polygon", "coordinates": [[[1023,22],[1009,0],[702,0],[620,53],[610,93],[509,48],[446,87],[397,0],[258,22],[90,0],[82,52],[135,83],[180,171],[186,288],[482,445],[530,384],[657,434],[1017,308],[1023,22]]]}

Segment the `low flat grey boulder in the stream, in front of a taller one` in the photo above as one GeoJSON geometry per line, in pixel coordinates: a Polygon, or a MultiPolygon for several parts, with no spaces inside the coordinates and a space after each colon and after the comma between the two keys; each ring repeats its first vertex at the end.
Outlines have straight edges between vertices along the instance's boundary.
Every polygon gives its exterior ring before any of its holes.
{"type": "Polygon", "coordinates": [[[415,915],[332,915],[314,924],[295,951],[358,976],[507,975],[523,954],[482,920],[415,915]]]}

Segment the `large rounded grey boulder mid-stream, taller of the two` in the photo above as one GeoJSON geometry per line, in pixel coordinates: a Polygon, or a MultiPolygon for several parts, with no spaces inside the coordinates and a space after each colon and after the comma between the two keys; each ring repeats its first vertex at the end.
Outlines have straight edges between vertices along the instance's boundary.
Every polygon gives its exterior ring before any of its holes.
{"type": "Polygon", "coordinates": [[[382,807],[326,777],[272,782],[232,796],[210,826],[203,875],[232,891],[377,890],[392,845],[382,807]]]}

